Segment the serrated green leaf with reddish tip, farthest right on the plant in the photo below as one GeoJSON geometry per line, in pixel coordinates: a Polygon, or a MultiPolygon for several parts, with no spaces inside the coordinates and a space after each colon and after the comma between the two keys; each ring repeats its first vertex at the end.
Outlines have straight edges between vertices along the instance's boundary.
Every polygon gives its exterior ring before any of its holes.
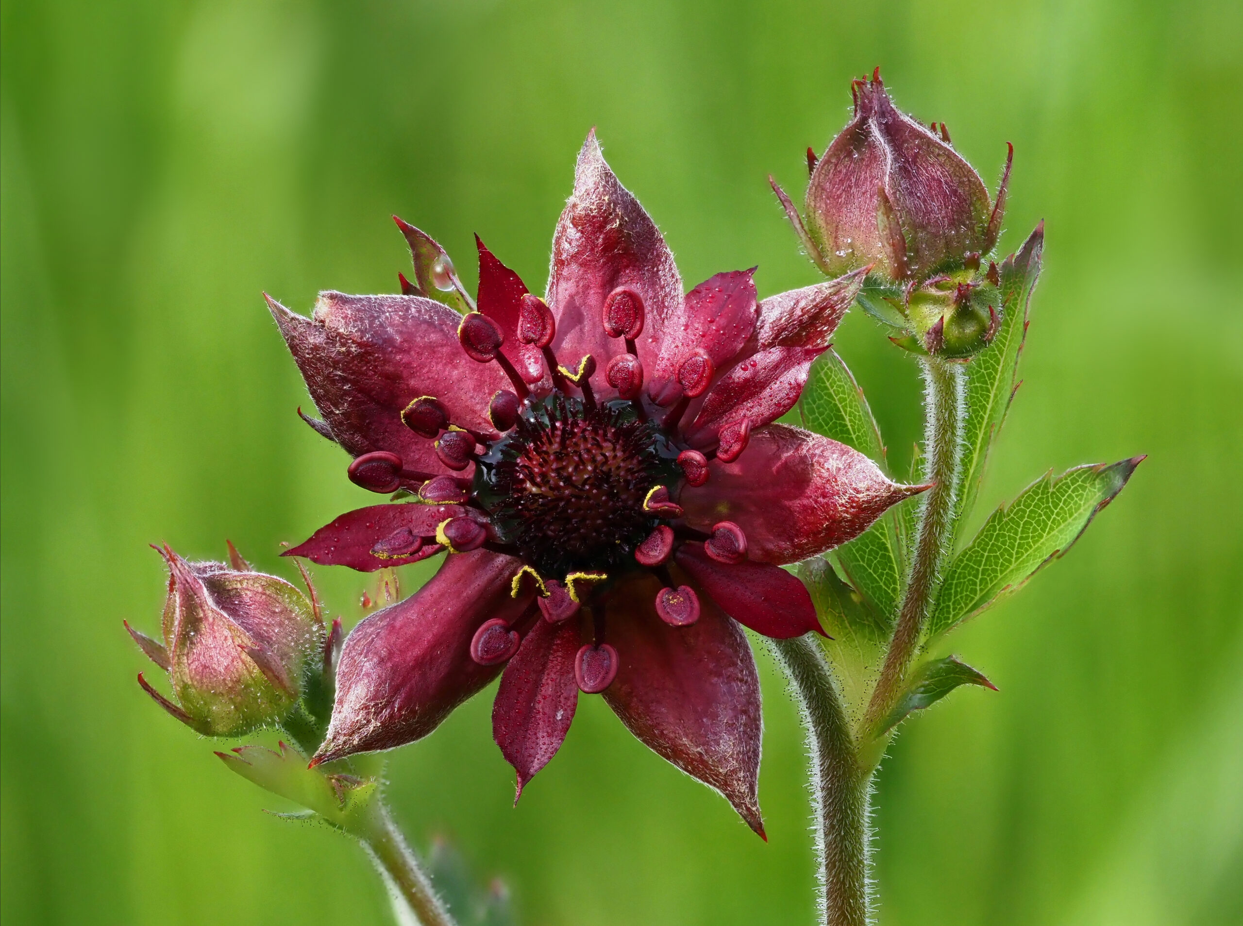
{"type": "Polygon", "coordinates": [[[1013,594],[1045,563],[1065,554],[1142,460],[1078,466],[1058,477],[1050,471],[1008,507],[994,511],[946,571],[929,635],[946,633],[1013,594]]]}

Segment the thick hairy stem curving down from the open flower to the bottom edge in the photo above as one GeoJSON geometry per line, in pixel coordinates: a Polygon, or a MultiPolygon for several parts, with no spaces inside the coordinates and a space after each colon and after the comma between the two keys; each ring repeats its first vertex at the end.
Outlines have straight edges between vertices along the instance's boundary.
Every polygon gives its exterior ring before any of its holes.
{"type": "Polygon", "coordinates": [[[850,722],[819,644],[774,640],[793,684],[812,756],[812,804],[824,926],[866,926],[871,911],[868,823],[871,769],[855,758],[850,722]]]}

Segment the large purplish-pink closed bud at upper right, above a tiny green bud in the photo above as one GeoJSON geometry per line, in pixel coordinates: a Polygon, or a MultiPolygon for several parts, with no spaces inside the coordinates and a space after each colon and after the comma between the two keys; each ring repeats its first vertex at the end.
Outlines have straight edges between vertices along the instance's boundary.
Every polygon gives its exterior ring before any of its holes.
{"type": "Polygon", "coordinates": [[[937,133],[894,108],[880,68],[851,91],[854,118],[815,164],[807,188],[807,231],[822,270],[839,276],[874,264],[895,281],[919,281],[991,251],[1006,208],[1009,160],[991,203],[943,124],[937,133]]]}

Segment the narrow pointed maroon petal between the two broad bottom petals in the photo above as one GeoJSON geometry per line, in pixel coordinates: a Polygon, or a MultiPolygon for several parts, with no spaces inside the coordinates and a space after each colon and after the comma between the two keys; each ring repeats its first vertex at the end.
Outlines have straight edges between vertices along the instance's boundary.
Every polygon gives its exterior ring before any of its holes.
{"type": "Polygon", "coordinates": [[[492,738],[518,776],[518,793],[561,748],[578,706],[574,655],[578,624],[537,620],[501,676],[492,702],[492,738]]]}

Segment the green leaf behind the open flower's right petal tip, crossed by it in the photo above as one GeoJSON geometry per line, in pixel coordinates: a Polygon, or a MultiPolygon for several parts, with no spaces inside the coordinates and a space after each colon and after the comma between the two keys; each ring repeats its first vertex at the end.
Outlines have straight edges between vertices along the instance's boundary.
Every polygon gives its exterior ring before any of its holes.
{"type": "MultiPolygon", "coordinates": [[[[886,469],[885,445],[863,389],[830,348],[812,364],[800,403],[803,424],[858,450],[886,469]]],[[[876,523],[834,552],[834,559],[876,612],[891,619],[901,595],[905,562],[899,539],[899,512],[890,510],[876,523]]]]}

